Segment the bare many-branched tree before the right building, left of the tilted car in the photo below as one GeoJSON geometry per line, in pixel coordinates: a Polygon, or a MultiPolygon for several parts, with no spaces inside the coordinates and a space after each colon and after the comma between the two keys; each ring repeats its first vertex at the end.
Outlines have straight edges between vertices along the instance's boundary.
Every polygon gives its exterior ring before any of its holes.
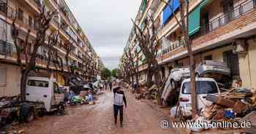
{"type": "Polygon", "coordinates": [[[135,25],[135,38],[138,41],[138,46],[140,47],[143,55],[145,55],[146,63],[148,65],[147,68],[147,87],[151,87],[152,85],[152,77],[154,76],[155,84],[158,86],[161,85],[161,76],[159,74],[160,68],[158,66],[157,61],[157,46],[159,46],[160,42],[157,39],[157,33],[155,33],[156,28],[154,25],[154,20],[151,15],[148,16],[148,23],[152,23],[151,28],[146,27],[146,32],[144,33],[144,29],[141,29],[138,24],[136,24],[133,20],[132,23],[135,25]]]}

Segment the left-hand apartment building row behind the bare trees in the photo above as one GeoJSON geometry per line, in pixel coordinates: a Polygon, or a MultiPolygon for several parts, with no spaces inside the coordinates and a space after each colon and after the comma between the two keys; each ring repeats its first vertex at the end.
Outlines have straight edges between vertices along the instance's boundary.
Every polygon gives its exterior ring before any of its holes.
{"type": "MultiPolygon", "coordinates": [[[[75,74],[85,76],[84,79],[94,79],[97,76],[99,68],[95,68],[99,56],[86,37],[86,34],[80,28],[78,21],[70,11],[64,0],[0,0],[0,97],[3,95],[18,95],[20,93],[20,67],[16,65],[17,51],[13,44],[11,36],[11,24],[13,17],[18,12],[16,24],[19,28],[18,46],[22,47],[28,29],[31,30],[29,35],[29,47],[36,37],[35,16],[40,12],[39,8],[45,7],[46,11],[58,12],[50,22],[50,31],[58,31],[58,45],[53,49],[61,57],[64,64],[64,71],[69,66],[75,66],[75,74]],[[69,53],[69,63],[66,63],[65,55],[67,50],[64,44],[72,44],[69,53]],[[89,66],[84,65],[83,59],[91,59],[89,66]],[[88,70],[94,72],[89,74],[88,70]],[[85,73],[86,72],[86,73],[85,73]]],[[[45,71],[47,65],[48,47],[42,46],[38,50],[37,68],[39,71],[45,71]]],[[[24,55],[21,54],[24,63],[24,55]]],[[[53,63],[59,63],[59,60],[53,60],[50,63],[50,76],[54,76],[59,84],[64,85],[64,75],[61,74],[60,68],[54,68],[53,63]]]]}

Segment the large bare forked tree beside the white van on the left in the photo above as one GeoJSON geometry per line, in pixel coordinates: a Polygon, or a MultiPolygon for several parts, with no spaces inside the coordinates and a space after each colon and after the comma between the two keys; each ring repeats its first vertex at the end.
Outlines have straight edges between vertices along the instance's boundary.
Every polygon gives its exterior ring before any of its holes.
{"type": "MultiPolygon", "coordinates": [[[[16,20],[18,18],[18,9],[15,11],[15,17],[12,20],[12,38],[14,39],[15,42],[15,47],[17,50],[17,62],[21,67],[21,72],[22,76],[20,79],[20,96],[21,96],[21,101],[26,100],[26,80],[28,78],[28,75],[31,71],[35,70],[36,68],[36,59],[37,59],[37,50],[39,47],[42,47],[45,44],[45,38],[46,38],[46,31],[50,27],[50,21],[52,20],[53,16],[56,15],[56,12],[45,12],[45,7],[40,8],[40,12],[38,15],[35,17],[35,23],[36,23],[36,28],[37,28],[37,33],[36,33],[36,39],[33,44],[33,50],[31,51],[30,58],[28,55],[26,55],[26,65],[22,65],[22,61],[20,58],[20,47],[18,46],[18,35],[19,35],[19,30],[16,27],[16,20]]],[[[26,36],[26,42],[24,46],[28,46],[28,39],[29,39],[29,33],[30,30],[27,32],[26,36]]],[[[26,48],[26,47],[25,47],[26,48]]],[[[26,54],[26,53],[25,53],[26,54]]]]}

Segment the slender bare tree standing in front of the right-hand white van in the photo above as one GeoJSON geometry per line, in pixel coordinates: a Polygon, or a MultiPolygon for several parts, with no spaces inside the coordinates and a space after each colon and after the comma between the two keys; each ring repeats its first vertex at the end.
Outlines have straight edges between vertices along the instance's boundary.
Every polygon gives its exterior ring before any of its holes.
{"type": "Polygon", "coordinates": [[[192,112],[195,116],[197,114],[197,94],[196,94],[196,82],[195,82],[195,60],[194,60],[194,53],[192,51],[192,40],[189,38],[189,1],[188,0],[179,0],[180,2],[180,20],[176,16],[176,12],[173,11],[172,5],[165,1],[161,0],[168,7],[170,7],[171,11],[173,12],[173,16],[178,23],[178,26],[181,28],[181,34],[184,36],[184,42],[187,47],[188,55],[189,55],[189,63],[190,63],[190,88],[191,88],[191,95],[192,95],[192,112]]]}

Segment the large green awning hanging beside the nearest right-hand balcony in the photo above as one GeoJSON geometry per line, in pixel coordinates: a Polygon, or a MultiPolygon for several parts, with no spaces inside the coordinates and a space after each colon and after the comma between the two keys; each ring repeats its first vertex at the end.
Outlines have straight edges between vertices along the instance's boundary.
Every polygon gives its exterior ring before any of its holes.
{"type": "Polygon", "coordinates": [[[203,6],[205,6],[208,1],[204,0],[197,6],[192,12],[189,13],[189,36],[192,34],[197,33],[200,29],[200,10],[203,6]]]}

